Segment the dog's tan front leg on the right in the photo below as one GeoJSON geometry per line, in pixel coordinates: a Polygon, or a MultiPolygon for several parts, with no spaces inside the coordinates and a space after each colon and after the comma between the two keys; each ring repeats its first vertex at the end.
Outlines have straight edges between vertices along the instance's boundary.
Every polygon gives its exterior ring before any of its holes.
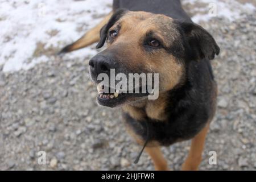
{"type": "Polygon", "coordinates": [[[189,154],[187,159],[185,160],[184,164],[182,165],[182,170],[185,171],[195,171],[198,169],[201,158],[202,152],[204,150],[204,142],[207,136],[207,132],[209,130],[209,124],[204,127],[203,130],[200,131],[191,141],[191,148],[189,150],[189,154]]]}

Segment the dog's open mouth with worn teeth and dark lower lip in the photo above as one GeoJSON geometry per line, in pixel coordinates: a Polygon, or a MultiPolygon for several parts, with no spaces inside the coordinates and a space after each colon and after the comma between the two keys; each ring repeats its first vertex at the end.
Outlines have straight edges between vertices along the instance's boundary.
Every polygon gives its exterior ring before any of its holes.
{"type": "Polygon", "coordinates": [[[97,85],[98,104],[102,106],[115,107],[124,104],[128,100],[135,100],[136,97],[148,96],[147,93],[122,93],[122,91],[114,89],[114,93],[110,92],[110,88],[105,88],[104,85],[97,85]],[[104,90],[109,90],[105,93],[104,90]]]}

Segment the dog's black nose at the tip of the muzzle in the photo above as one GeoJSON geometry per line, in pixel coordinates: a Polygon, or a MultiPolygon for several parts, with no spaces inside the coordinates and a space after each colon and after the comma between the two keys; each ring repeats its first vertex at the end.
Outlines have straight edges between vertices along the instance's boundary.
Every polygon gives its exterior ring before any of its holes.
{"type": "Polygon", "coordinates": [[[98,76],[100,73],[110,73],[110,69],[114,68],[111,59],[108,56],[96,55],[90,61],[90,71],[93,76],[98,76]]]}

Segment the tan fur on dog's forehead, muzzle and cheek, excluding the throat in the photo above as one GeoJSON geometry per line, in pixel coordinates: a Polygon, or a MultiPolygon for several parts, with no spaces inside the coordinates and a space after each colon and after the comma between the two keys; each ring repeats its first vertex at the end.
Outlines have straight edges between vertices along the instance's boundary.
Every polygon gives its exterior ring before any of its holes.
{"type": "Polygon", "coordinates": [[[175,36],[179,36],[176,30],[172,30],[169,34],[167,32],[163,34],[163,30],[171,30],[170,27],[164,26],[163,22],[171,24],[172,18],[145,12],[129,12],[110,28],[109,31],[112,31],[121,26],[118,37],[113,42],[108,42],[108,51],[118,52],[117,58],[128,69],[138,73],[141,71],[144,73],[161,73],[159,75],[160,92],[170,90],[178,83],[180,84],[185,72],[181,61],[176,60],[164,49],[154,53],[148,53],[144,50],[142,39],[148,31],[155,32],[166,46],[170,46],[171,40],[174,40],[175,36]]]}

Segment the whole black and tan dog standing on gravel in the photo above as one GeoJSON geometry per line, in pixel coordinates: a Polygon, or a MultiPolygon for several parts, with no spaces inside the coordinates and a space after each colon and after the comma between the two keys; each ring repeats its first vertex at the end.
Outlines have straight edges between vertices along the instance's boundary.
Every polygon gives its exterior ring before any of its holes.
{"type": "Polygon", "coordinates": [[[61,52],[98,42],[107,48],[90,61],[96,84],[100,73],[159,73],[159,98],[140,94],[99,94],[98,103],[121,106],[129,133],[146,152],[155,169],[168,169],[160,146],[192,139],[182,169],[201,162],[205,137],[216,111],[217,84],[210,61],[220,48],[204,28],[192,22],[179,0],[117,0],[98,26],[61,52]],[[120,9],[121,8],[121,9],[120,9]]]}

